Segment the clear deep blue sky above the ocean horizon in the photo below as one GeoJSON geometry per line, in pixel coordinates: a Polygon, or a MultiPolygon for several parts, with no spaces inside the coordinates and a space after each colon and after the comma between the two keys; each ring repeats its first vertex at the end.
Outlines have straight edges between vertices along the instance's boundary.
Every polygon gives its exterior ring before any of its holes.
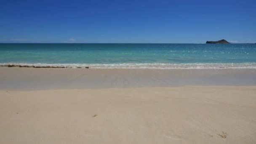
{"type": "Polygon", "coordinates": [[[256,0],[0,0],[0,43],[256,43],[256,0]]]}

